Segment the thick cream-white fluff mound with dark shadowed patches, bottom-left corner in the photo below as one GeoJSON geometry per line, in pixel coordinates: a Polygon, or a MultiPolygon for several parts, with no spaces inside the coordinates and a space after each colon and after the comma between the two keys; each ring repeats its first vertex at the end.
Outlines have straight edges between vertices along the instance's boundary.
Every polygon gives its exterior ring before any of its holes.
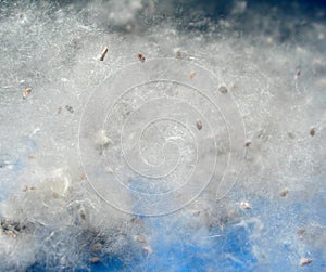
{"type": "Polygon", "coordinates": [[[24,271],[34,263],[74,270],[117,252],[125,260],[137,255],[133,237],[141,225],[109,208],[85,180],[58,169],[33,184],[1,205],[2,270],[24,271]]]}

